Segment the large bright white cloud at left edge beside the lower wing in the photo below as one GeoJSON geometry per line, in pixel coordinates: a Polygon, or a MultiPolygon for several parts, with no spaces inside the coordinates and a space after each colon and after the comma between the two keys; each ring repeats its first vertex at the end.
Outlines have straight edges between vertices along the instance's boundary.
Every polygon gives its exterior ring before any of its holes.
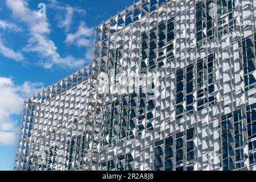
{"type": "Polygon", "coordinates": [[[0,144],[16,143],[18,121],[13,121],[12,115],[22,113],[24,99],[42,88],[42,83],[26,81],[15,85],[11,78],[0,77],[0,144]]]}

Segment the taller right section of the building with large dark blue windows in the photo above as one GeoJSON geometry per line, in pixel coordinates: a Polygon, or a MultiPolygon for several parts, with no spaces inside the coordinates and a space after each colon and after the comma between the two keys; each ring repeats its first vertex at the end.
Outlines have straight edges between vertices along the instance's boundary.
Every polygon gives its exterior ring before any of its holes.
{"type": "Polygon", "coordinates": [[[255,169],[256,2],[156,2],[96,30],[95,57],[112,83],[101,169],[255,169]],[[154,100],[118,77],[151,72],[154,100]]]}

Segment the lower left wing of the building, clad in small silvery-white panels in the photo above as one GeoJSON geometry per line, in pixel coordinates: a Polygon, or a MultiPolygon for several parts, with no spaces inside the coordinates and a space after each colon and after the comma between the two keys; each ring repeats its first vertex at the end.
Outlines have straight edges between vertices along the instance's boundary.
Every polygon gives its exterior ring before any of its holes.
{"type": "Polygon", "coordinates": [[[89,122],[90,69],[81,69],[25,102],[14,169],[88,166],[92,138],[97,137],[89,122]]]}

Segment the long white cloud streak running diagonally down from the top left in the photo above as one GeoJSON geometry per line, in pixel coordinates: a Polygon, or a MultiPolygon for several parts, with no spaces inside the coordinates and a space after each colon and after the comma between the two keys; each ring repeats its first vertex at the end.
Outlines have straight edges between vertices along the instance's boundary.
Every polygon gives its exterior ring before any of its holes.
{"type": "Polygon", "coordinates": [[[85,60],[76,59],[72,56],[61,57],[57,53],[55,43],[48,38],[50,33],[48,19],[40,17],[36,11],[30,10],[26,1],[6,0],[6,6],[12,11],[14,18],[25,23],[30,31],[31,37],[23,51],[38,53],[39,62],[44,68],[51,69],[54,65],[64,68],[78,68],[84,65],[85,60]]]}

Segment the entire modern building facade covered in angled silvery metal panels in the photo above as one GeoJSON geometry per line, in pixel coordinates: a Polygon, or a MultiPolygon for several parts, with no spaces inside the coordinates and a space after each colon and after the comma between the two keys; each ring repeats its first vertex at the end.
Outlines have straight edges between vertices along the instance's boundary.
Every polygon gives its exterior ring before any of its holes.
{"type": "Polygon", "coordinates": [[[16,170],[256,170],[256,1],[144,0],[24,104],[16,170]]]}

